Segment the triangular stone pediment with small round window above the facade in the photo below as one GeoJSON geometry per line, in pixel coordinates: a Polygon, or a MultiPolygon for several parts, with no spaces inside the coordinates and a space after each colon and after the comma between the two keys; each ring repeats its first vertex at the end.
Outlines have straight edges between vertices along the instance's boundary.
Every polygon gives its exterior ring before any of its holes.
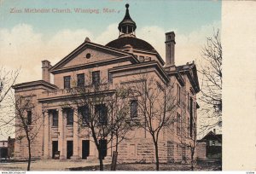
{"type": "Polygon", "coordinates": [[[111,49],[99,44],[84,43],[72,53],[64,57],[61,61],[55,64],[50,69],[51,72],[68,67],[78,67],[80,65],[86,65],[91,63],[97,63],[101,61],[111,61],[119,57],[132,56],[129,53],[118,49],[111,49]]]}

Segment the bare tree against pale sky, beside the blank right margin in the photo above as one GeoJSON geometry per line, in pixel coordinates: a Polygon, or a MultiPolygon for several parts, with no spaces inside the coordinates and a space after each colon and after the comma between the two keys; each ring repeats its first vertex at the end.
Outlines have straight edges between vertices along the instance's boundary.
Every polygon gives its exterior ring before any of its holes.
{"type": "Polygon", "coordinates": [[[201,125],[210,129],[222,120],[222,45],[220,32],[213,31],[201,51],[201,125]]]}

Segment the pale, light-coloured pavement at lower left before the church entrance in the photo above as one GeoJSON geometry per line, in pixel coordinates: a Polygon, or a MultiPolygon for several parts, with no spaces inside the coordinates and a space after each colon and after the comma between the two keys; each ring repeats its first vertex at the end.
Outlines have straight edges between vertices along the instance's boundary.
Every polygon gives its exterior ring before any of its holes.
{"type": "MultiPolygon", "coordinates": [[[[104,165],[110,164],[108,161],[103,160],[104,165]]],[[[84,167],[99,165],[99,161],[96,159],[79,159],[79,160],[37,160],[32,161],[31,171],[68,171],[71,167],[84,167]]],[[[27,162],[16,163],[0,163],[0,171],[26,171],[27,162]]]]}

